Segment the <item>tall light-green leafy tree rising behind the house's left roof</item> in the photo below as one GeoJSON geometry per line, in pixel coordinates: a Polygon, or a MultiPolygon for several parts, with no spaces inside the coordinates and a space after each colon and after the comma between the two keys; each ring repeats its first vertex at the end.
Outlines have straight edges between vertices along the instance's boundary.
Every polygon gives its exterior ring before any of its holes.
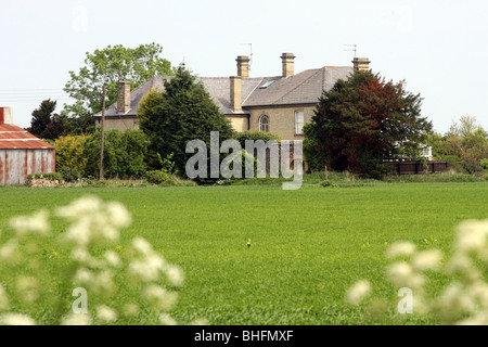
{"type": "Polygon", "coordinates": [[[171,64],[159,55],[163,47],[157,43],[140,44],[136,49],[121,44],[108,46],[93,53],[87,52],[85,66],[70,79],[64,91],[74,98],[73,105],[64,105],[63,114],[93,115],[102,110],[102,89],[106,86],[107,103],[117,100],[117,81],[128,80],[136,88],[150,77],[172,75],[171,64]]]}

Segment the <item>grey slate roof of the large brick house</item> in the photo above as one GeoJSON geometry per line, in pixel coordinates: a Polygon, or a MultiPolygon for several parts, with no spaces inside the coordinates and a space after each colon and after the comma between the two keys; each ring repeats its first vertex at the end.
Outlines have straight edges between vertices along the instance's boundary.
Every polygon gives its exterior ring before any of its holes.
{"type": "MultiPolygon", "coordinates": [[[[347,79],[352,74],[349,66],[324,66],[308,69],[290,77],[255,77],[242,78],[242,107],[313,104],[319,101],[323,90],[330,90],[338,79],[347,79]],[[269,85],[266,87],[266,85],[269,85]],[[266,88],[264,88],[266,87],[266,88]]],[[[154,76],[130,91],[130,110],[117,112],[117,103],[105,110],[106,117],[137,116],[139,103],[150,90],[164,90],[165,80],[172,76],[154,76]]],[[[229,77],[197,77],[208,91],[214,102],[224,115],[246,114],[245,110],[234,113],[230,107],[229,77]]],[[[101,113],[95,114],[100,117],[101,113]]]]}

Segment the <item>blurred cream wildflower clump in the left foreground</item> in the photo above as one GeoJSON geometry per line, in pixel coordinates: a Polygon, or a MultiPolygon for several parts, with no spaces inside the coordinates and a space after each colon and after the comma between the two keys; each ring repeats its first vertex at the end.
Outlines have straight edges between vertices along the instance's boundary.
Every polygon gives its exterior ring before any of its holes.
{"type": "Polygon", "coordinates": [[[0,325],[176,324],[183,273],[143,237],[120,245],[130,224],[123,204],[95,196],[11,219],[0,231],[0,325]]]}

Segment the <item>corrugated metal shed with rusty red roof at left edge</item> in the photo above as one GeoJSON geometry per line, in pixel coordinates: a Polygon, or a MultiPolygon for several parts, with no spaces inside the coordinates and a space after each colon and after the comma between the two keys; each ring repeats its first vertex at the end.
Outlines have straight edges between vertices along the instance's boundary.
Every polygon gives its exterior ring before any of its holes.
{"type": "MultiPolygon", "coordinates": [[[[11,112],[11,110],[9,110],[11,112]]],[[[29,174],[54,172],[55,149],[7,120],[0,106],[0,184],[24,184],[29,174]]]]}

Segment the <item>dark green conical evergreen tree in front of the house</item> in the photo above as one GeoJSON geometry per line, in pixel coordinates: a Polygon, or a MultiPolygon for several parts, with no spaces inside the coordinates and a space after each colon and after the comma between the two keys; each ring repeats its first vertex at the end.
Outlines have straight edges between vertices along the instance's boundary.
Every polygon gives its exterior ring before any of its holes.
{"type": "MultiPolygon", "coordinates": [[[[174,153],[178,172],[185,172],[187,143],[202,140],[210,147],[210,132],[219,131],[220,141],[233,136],[232,126],[220,113],[208,92],[196,78],[180,65],[176,76],[165,82],[165,91],[153,91],[138,111],[140,128],[160,157],[174,153]]],[[[208,151],[209,152],[209,151],[208,151]]]]}

